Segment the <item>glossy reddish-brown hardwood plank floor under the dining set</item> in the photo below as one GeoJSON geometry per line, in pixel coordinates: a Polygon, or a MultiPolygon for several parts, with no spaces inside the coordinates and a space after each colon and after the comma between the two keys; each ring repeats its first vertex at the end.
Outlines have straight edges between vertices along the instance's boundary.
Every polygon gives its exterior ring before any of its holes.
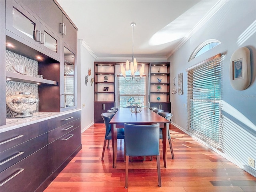
{"type": "MultiPolygon", "coordinates": [[[[160,166],[162,187],[158,187],[156,158],[129,163],[128,189],[124,188],[124,140],[118,140],[118,159],[112,168],[112,144],[101,160],[104,124],[94,124],[82,133],[82,150],[44,192],[255,192],[256,178],[170,125],[175,159],[167,152],[160,166]]],[[[160,141],[160,148],[162,142],[160,141]]]]}

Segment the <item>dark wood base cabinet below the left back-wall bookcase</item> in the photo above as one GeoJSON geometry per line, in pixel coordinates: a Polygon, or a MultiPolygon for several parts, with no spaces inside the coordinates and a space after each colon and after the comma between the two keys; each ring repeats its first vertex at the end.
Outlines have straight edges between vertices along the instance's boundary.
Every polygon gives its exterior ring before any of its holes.
{"type": "Polygon", "coordinates": [[[114,102],[94,102],[94,123],[104,123],[101,114],[108,112],[114,105],[114,102]]]}

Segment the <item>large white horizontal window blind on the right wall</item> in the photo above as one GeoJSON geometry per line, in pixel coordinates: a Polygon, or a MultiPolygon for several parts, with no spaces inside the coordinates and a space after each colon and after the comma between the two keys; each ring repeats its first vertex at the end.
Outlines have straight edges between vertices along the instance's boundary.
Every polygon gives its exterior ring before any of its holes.
{"type": "Polygon", "coordinates": [[[221,55],[187,69],[188,131],[220,148],[221,55]]]}

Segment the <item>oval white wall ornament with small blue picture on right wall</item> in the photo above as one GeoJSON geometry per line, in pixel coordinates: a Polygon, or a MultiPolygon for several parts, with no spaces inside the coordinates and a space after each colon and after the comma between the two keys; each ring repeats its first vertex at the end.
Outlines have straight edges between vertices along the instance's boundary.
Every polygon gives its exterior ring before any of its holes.
{"type": "Polygon", "coordinates": [[[245,90],[251,83],[250,50],[246,47],[236,50],[230,58],[230,84],[235,90],[245,90]]]}

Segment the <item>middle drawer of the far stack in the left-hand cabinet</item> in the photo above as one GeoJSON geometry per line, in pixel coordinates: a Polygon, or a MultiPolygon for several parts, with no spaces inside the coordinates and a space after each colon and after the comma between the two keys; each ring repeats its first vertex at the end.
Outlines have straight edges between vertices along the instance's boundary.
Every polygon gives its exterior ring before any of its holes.
{"type": "Polygon", "coordinates": [[[48,142],[51,143],[54,140],[60,138],[61,136],[67,134],[68,132],[74,130],[80,126],[80,118],[76,119],[70,123],[67,123],[65,125],[62,125],[54,130],[51,130],[48,132],[48,142]]]}

